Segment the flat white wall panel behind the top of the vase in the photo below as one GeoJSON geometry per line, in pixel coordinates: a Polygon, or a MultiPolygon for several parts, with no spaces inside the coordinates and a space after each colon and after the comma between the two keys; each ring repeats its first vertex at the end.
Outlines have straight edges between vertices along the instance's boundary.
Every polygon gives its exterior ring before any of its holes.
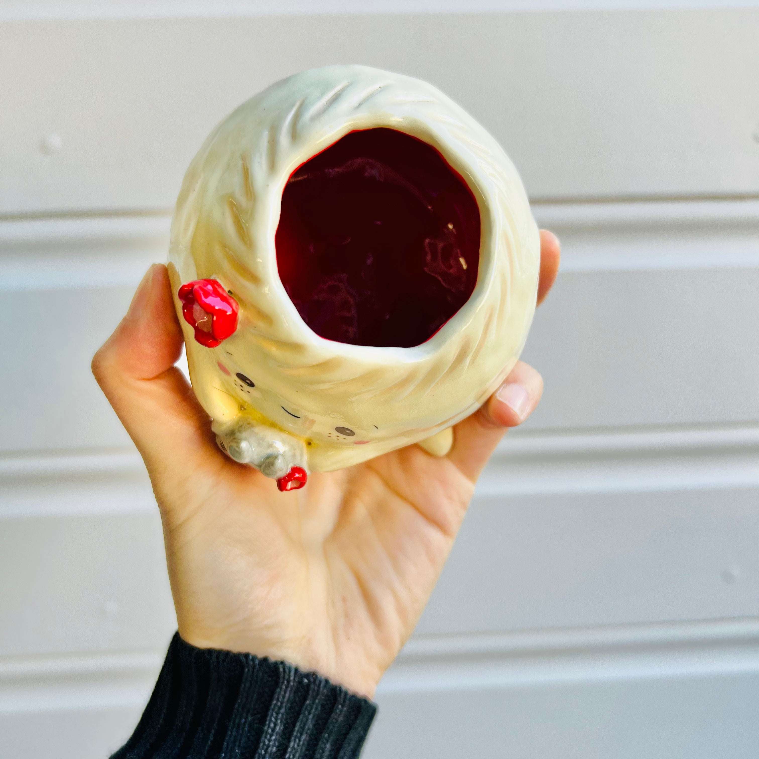
{"type": "Polygon", "coordinates": [[[168,208],[231,109],[345,61],[438,84],[536,199],[756,194],[757,39],[759,9],[6,22],[0,212],[168,208]]]}

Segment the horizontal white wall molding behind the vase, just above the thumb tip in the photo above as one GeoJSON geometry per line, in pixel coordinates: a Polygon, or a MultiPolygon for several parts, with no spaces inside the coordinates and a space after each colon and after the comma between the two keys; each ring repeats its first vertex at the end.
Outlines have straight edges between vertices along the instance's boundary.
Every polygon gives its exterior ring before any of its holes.
{"type": "MultiPolygon", "coordinates": [[[[562,238],[562,272],[759,266],[759,200],[535,203],[562,238]]],[[[165,213],[0,219],[5,288],[136,284],[165,261],[165,213]]]]}

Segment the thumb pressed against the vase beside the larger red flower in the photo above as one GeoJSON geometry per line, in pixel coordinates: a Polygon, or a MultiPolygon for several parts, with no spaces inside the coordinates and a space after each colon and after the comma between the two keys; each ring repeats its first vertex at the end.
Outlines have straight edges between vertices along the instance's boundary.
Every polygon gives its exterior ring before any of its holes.
{"type": "Polygon", "coordinates": [[[154,263],[115,332],[97,351],[92,369],[149,470],[172,456],[216,454],[208,417],[174,364],[183,335],[168,272],[154,263]]]}

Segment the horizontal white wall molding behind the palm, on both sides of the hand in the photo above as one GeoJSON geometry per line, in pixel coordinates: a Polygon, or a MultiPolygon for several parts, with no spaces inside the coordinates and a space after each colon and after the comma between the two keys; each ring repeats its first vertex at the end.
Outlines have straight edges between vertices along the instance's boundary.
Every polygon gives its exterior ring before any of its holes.
{"type": "MultiPolygon", "coordinates": [[[[759,488],[759,427],[514,432],[493,455],[477,494],[735,487],[759,488]]],[[[142,459],[134,449],[2,455],[0,492],[0,518],[155,508],[142,459]],[[103,488],[111,494],[109,499],[97,496],[103,488]]]]}

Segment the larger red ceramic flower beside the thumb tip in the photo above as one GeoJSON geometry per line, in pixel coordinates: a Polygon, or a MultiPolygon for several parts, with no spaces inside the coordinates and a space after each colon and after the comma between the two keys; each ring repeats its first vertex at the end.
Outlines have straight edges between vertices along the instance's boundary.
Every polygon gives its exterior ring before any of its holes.
{"type": "Polygon", "coordinates": [[[196,279],[179,288],[182,316],[195,330],[195,339],[216,348],[237,329],[240,307],[216,279],[196,279]]]}

